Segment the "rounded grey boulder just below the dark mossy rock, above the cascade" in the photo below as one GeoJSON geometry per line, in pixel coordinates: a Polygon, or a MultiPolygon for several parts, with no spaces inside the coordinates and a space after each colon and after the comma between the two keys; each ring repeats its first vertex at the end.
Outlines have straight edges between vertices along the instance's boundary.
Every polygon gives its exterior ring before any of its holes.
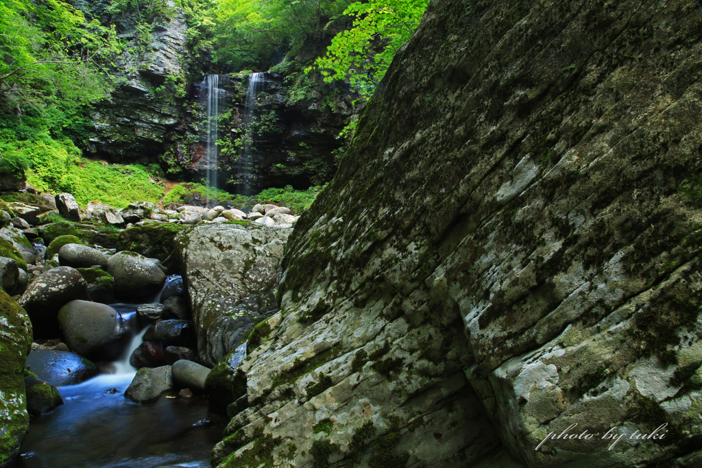
{"type": "Polygon", "coordinates": [[[155,295],[166,281],[166,274],[151,260],[134,252],[118,252],[107,262],[107,272],[114,278],[117,297],[135,302],[155,295]]]}

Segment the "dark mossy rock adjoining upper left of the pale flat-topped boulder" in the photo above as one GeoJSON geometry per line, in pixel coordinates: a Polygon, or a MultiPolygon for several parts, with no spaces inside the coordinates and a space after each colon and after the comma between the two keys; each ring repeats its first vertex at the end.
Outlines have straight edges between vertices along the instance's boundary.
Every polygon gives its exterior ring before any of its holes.
{"type": "Polygon", "coordinates": [[[131,250],[145,257],[165,260],[173,252],[173,239],[191,226],[172,223],[146,223],[124,229],[117,239],[117,250],[131,250]]]}

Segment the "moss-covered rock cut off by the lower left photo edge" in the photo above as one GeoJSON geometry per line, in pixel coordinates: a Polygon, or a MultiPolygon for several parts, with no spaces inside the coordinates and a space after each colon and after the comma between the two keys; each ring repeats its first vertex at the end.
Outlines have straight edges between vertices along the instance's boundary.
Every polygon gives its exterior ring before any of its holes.
{"type": "Polygon", "coordinates": [[[24,376],[31,344],[27,313],[0,290],[0,467],[13,463],[29,430],[24,376]]]}

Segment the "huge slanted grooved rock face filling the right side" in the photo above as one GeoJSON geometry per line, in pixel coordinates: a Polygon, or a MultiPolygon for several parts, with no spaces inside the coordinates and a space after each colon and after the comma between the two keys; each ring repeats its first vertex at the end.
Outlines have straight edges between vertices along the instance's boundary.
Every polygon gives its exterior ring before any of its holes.
{"type": "Polygon", "coordinates": [[[433,1],[215,461],[701,464],[701,36],[691,1],[433,1]]]}

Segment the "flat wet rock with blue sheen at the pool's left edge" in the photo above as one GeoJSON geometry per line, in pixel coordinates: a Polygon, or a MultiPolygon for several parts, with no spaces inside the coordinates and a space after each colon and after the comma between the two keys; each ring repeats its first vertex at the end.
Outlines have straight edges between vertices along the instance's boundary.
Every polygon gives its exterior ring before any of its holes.
{"type": "Polygon", "coordinates": [[[39,380],[55,387],[76,385],[100,373],[92,361],[78,354],[51,349],[35,349],[30,352],[27,366],[39,380]]]}

